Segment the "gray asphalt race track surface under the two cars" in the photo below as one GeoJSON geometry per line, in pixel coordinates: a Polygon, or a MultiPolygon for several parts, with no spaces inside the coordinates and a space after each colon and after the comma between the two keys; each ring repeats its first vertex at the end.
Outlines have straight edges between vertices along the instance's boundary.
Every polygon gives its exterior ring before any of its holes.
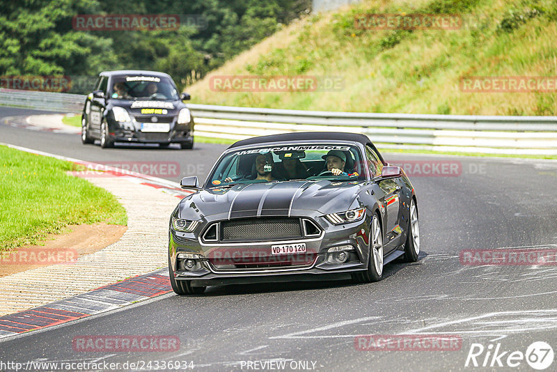
{"type": "MultiPolygon", "coordinates": [[[[172,180],[194,173],[203,180],[226,148],[102,150],[81,145],[77,135],[3,124],[6,116],[31,112],[0,108],[0,142],[93,162],[179,162],[182,171],[172,180]]],[[[183,361],[199,371],[282,366],[287,371],[533,371],[526,359],[508,357],[515,351],[526,355],[535,341],[557,352],[557,265],[467,265],[459,255],[466,249],[557,249],[557,162],[412,154],[385,158],[415,172],[409,176],[418,195],[421,254],[416,263],[387,265],[382,281],[210,287],[191,297],[171,293],[0,341],[0,361],[119,362],[119,370],[125,362],[145,363],[126,370],[141,370],[141,365],[149,370],[148,361],[150,369],[165,370],[163,362],[168,367],[168,362],[183,361]],[[451,168],[456,171],[416,173],[440,162],[456,164],[451,168]],[[460,343],[457,350],[374,351],[359,350],[354,341],[358,335],[409,334],[450,335],[460,343]],[[91,335],[178,336],[180,348],[74,351],[74,338],[91,335]],[[480,353],[476,344],[485,350],[480,353]],[[478,355],[477,367],[472,359],[465,367],[471,351],[478,355]]],[[[546,371],[556,367],[554,360],[546,371]]]]}

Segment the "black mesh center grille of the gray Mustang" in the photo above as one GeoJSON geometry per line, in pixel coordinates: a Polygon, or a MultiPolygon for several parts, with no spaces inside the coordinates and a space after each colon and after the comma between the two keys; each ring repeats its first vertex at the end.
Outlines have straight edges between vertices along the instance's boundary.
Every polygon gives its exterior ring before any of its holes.
{"type": "Polygon", "coordinates": [[[265,241],[301,238],[298,218],[246,218],[221,223],[221,241],[265,241]]]}

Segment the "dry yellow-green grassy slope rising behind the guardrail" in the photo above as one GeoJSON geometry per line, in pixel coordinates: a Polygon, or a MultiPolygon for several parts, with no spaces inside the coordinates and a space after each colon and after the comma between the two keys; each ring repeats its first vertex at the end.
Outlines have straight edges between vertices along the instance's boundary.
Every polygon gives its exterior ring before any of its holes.
{"type": "Polygon", "coordinates": [[[244,107],[556,115],[556,93],[463,93],[459,87],[464,76],[557,76],[556,8],[553,0],[364,0],[287,26],[187,91],[196,103],[244,107]],[[534,8],[541,14],[528,17],[534,8]],[[451,13],[462,16],[463,26],[354,29],[354,16],[362,13],[451,13]],[[222,93],[210,90],[212,75],[340,76],[345,88],[222,93]]]}

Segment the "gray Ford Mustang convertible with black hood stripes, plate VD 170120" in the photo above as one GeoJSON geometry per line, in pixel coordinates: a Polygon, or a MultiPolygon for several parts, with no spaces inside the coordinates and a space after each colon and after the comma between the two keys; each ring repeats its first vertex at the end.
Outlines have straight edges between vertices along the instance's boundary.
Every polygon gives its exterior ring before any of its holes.
{"type": "Polygon", "coordinates": [[[414,187],[363,134],[238,141],[172,213],[168,268],[179,295],[207,286],[382,279],[420,251],[414,187]]]}

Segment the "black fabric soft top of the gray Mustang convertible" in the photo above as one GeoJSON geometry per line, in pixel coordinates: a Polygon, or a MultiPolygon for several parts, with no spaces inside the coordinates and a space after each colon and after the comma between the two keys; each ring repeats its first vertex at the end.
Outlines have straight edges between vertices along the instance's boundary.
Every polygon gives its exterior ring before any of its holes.
{"type": "Polygon", "coordinates": [[[344,132],[293,132],[283,134],[272,134],[270,136],[254,137],[237,141],[235,144],[230,145],[229,148],[235,148],[253,144],[267,144],[271,142],[283,141],[354,141],[363,144],[370,144],[371,141],[365,134],[359,133],[344,133],[344,132]]]}

